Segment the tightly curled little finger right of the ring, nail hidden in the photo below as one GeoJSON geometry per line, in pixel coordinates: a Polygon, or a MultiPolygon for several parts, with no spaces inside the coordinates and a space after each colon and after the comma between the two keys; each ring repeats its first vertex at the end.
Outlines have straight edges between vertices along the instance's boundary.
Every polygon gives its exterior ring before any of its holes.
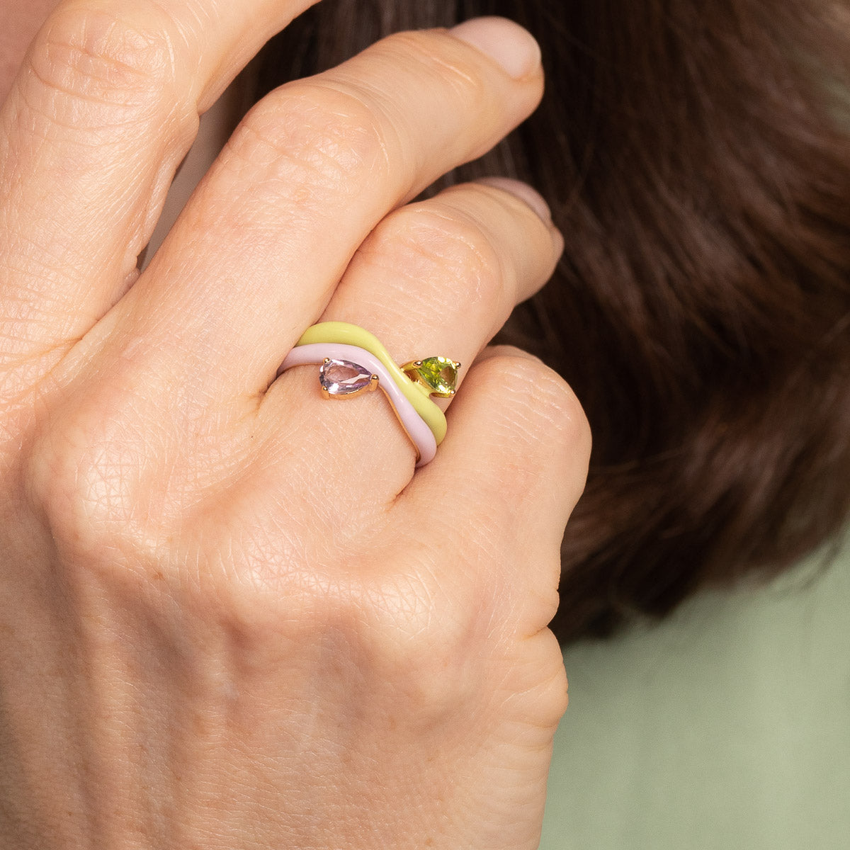
{"type": "Polygon", "coordinates": [[[587,418],[561,377],[508,346],[487,349],[473,364],[447,417],[436,458],[397,501],[394,522],[416,527],[413,518],[422,524],[439,506],[450,529],[484,553],[470,567],[479,574],[472,581],[512,592],[520,627],[534,634],[558,605],[564,526],[587,478],[587,418]],[[492,575],[506,552],[515,553],[518,569],[492,575]]]}

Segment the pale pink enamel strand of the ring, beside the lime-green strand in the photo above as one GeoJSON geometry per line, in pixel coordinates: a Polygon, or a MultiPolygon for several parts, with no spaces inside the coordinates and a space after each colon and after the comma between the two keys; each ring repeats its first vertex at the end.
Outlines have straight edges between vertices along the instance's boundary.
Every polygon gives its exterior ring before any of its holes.
{"type": "Polygon", "coordinates": [[[416,467],[423,467],[426,463],[433,461],[437,454],[437,440],[428,424],[416,413],[411,402],[401,392],[398,384],[393,380],[387,367],[382,364],[374,354],[359,348],[356,345],[345,345],[343,343],[310,343],[309,345],[298,345],[292,348],[286,355],[286,360],[280,364],[278,374],[291,369],[292,366],[320,365],[326,358],[331,360],[348,360],[357,363],[371,371],[378,377],[378,387],[393,405],[395,415],[407,432],[413,445],[419,454],[416,467]]]}

